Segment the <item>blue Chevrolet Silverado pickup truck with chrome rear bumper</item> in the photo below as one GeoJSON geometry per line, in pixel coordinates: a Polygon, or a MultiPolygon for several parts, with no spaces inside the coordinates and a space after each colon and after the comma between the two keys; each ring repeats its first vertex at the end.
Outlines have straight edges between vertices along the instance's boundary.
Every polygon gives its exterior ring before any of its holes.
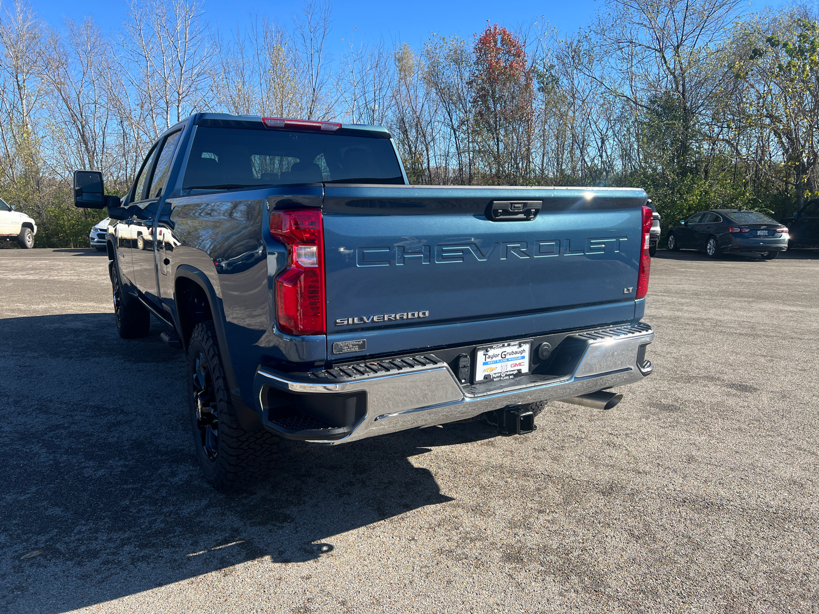
{"type": "Polygon", "coordinates": [[[120,336],[153,314],[187,353],[219,490],[268,476],[282,438],[525,434],[549,401],[609,409],[653,369],[639,189],[409,185],[386,129],[206,113],[121,200],[96,172],[74,187],[111,217],[120,336]]]}

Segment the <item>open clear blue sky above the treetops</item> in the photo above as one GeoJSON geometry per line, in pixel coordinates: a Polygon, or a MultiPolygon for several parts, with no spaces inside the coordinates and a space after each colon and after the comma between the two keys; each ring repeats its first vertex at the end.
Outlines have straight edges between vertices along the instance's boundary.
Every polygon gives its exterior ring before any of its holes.
{"type": "MultiPolygon", "coordinates": [[[[34,10],[53,25],[59,25],[66,16],[79,20],[88,14],[104,29],[111,29],[120,25],[128,11],[125,0],[31,0],[31,3],[34,10]]],[[[777,6],[779,3],[777,0],[753,0],[748,7],[755,10],[767,5],[777,6]]],[[[351,35],[355,40],[372,41],[383,38],[386,43],[411,45],[427,39],[431,32],[447,36],[458,34],[462,38],[469,38],[486,27],[487,20],[509,28],[529,25],[533,21],[548,22],[560,31],[567,32],[588,24],[601,5],[602,0],[332,0],[333,31],[329,43],[331,51],[338,54],[345,48],[342,38],[349,38],[351,35]]],[[[211,23],[219,25],[222,31],[233,29],[237,24],[246,24],[251,12],[289,25],[293,14],[300,11],[302,6],[302,0],[205,0],[211,23]]]]}

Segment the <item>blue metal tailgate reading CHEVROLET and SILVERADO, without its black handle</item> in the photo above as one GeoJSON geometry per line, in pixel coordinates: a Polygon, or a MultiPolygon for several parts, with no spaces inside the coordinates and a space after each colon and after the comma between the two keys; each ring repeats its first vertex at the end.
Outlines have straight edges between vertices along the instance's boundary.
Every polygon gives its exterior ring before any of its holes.
{"type": "Polygon", "coordinates": [[[337,341],[366,341],[346,359],[634,318],[644,203],[621,188],[327,185],[328,354],[337,341]],[[542,207],[493,221],[499,201],[542,207]]]}

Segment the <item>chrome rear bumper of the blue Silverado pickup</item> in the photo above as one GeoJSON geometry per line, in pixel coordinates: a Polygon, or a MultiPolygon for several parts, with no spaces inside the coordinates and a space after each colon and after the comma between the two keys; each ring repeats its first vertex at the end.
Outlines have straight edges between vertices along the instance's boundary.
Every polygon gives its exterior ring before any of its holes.
{"type": "MultiPolygon", "coordinates": [[[[654,330],[645,323],[579,332],[566,337],[555,348],[550,373],[526,375],[511,380],[462,386],[450,366],[434,353],[399,372],[340,377],[331,381],[322,372],[293,377],[270,368],[256,372],[256,400],[263,422],[270,427],[266,399],[270,389],[296,395],[339,395],[366,393],[366,413],[348,433],[334,439],[292,436],[292,439],[334,445],[436,424],[473,418],[509,404],[560,400],[623,386],[642,380],[652,371],[645,360],[645,345],[654,340],[654,330]],[[426,360],[423,360],[426,359],[426,360]]],[[[395,361],[393,361],[395,362],[395,361]]],[[[287,436],[287,435],[285,435],[287,436]]]]}

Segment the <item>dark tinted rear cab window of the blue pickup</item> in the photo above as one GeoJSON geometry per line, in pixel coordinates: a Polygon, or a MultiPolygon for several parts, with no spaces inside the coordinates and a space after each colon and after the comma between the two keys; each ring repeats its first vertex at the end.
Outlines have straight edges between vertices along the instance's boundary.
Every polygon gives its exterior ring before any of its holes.
{"type": "Polygon", "coordinates": [[[389,138],[351,134],[355,130],[336,134],[259,125],[260,129],[197,126],[183,189],[404,183],[389,138]]]}

